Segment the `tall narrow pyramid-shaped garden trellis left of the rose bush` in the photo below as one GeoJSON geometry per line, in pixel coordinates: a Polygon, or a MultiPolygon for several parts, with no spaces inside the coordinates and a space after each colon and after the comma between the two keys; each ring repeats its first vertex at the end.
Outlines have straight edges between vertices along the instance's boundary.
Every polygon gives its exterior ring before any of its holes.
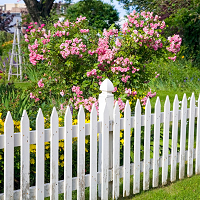
{"type": "Polygon", "coordinates": [[[19,26],[19,23],[17,20],[15,30],[14,30],[14,39],[13,39],[13,44],[12,44],[11,58],[10,58],[10,68],[8,72],[8,81],[13,75],[16,75],[17,78],[20,76],[20,80],[22,80],[22,56],[21,56],[21,48],[20,48],[20,31],[21,31],[21,27],[19,26]]]}

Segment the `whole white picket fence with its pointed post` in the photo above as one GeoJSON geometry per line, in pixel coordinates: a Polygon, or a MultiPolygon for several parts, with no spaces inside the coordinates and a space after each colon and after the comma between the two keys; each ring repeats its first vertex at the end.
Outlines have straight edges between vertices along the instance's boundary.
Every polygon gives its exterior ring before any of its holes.
{"type": "MultiPolygon", "coordinates": [[[[129,102],[126,102],[124,118],[120,118],[119,106],[113,108],[113,85],[106,79],[100,89],[99,121],[97,111],[93,106],[90,123],[85,124],[84,109],[80,107],[78,125],[72,125],[69,107],[66,110],[64,127],[59,127],[56,109],[51,115],[51,128],[44,129],[44,117],[41,109],[36,119],[36,131],[29,131],[29,118],[24,111],[21,119],[21,133],[14,133],[13,120],[8,112],[5,121],[5,133],[0,135],[0,149],[4,148],[4,193],[0,199],[58,199],[59,193],[64,193],[64,199],[72,199],[72,191],[77,190],[77,199],[85,199],[85,188],[90,187],[90,199],[113,199],[119,197],[120,178],[123,178],[123,196],[130,195],[130,177],[133,175],[133,194],[139,193],[143,173],[143,190],[150,185],[150,170],[153,169],[152,186],[159,185],[159,168],[162,168],[162,185],[167,184],[168,166],[171,165],[170,181],[176,180],[176,168],[179,163],[179,179],[185,178],[185,163],[187,161],[187,176],[200,174],[200,106],[195,107],[194,94],[187,108],[184,95],[182,108],[176,96],[173,111],[170,111],[169,98],[166,98],[164,112],[161,113],[159,97],[155,105],[155,113],[151,114],[150,100],[147,100],[145,115],[141,115],[139,100],[135,107],[135,116],[131,116],[129,102]],[[197,118],[197,119],[196,119],[197,118]],[[189,132],[186,133],[187,119],[189,132]],[[180,127],[180,151],[177,152],[178,121],[180,127]],[[168,155],[169,126],[172,122],[172,149],[168,155]],[[159,156],[160,124],[163,123],[163,155],[159,156]],[[196,148],[194,149],[194,126],[197,124],[196,148]],[[153,159],[150,159],[151,125],[154,125],[153,159]],[[141,127],[144,126],[144,159],[141,160],[141,127]],[[130,131],[134,128],[134,163],[130,163],[130,131]],[[124,129],[123,166],[120,166],[120,130],[124,129]],[[99,133],[99,138],[97,137],[99,133]],[[186,135],[188,134],[188,149],[186,150],[186,135]],[[90,135],[90,174],[85,174],[85,136],[90,135]],[[72,138],[77,137],[77,177],[72,177],[72,138]],[[64,139],[64,180],[58,180],[58,143],[64,139]],[[50,141],[50,183],[44,184],[45,145],[50,141]],[[98,153],[99,142],[99,153],[98,153]],[[30,144],[36,144],[36,185],[30,187],[30,144]],[[14,190],[14,147],[21,146],[21,187],[14,190]],[[98,156],[97,156],[98,155],[98,156]],[[99,166],[97,170],[97,159],[99,166]],[[98,185],[98,191],[97,191],[98,185]],[[99,194],[98,194],[99,193],[99,194]]],[[[200,98],[198,100],[198,105],[200,98]]],[[[131,188],[132,189],[132,188],[131,188]]]]}

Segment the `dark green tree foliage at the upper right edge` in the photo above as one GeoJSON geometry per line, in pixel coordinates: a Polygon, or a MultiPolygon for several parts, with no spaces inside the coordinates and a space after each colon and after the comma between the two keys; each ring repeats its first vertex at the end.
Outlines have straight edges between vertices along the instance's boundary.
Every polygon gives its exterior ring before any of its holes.
{"type": "Polygon", "coordinates": [[[175,29],[183,38],[183,55],[199,67],[200,63],[200,3],[192,1],[188,7],[179,8],[170,15],[166,24],[175,29]]]}

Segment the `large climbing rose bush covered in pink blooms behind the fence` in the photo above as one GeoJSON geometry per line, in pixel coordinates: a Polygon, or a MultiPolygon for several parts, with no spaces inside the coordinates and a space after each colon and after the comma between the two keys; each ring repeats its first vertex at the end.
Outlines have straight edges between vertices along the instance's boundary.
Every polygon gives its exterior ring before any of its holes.
{"type": "Polygon", "coordinates": [[[164,38],[165,22],[153,12],[133,11],[127,18],[121,30],[111,26],[102,33],[89,30],[82,16],[76,22],[58,21],[49,30],[31,25],[25,35],[29,61],[33,66],[42,64],[48,75],[39,79],[30,98],[41,99],[44,92],[53,95],[53,87],[62,99],[61,109],[71,104],[91,111],[93,104],[98,108],[99,87],[109,78],[122,111],[127,99],[132,107],[138,98],[145,105],[147,98],[156,95],[148,82],[159,76],[148,64],[154,57],[175,61],[182,39],[179,35],[164,38]]]}

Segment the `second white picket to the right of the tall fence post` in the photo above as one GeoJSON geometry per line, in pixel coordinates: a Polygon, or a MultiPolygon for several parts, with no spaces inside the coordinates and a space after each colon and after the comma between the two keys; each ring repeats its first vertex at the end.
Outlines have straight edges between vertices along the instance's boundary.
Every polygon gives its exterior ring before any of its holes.
{"type": "Polygon", "coordinates": [[[130,194],[130,130],[131,130],[131,108],[129,101],[126,101],[124,109],[124,178],[123,197],[130,194]]]}

